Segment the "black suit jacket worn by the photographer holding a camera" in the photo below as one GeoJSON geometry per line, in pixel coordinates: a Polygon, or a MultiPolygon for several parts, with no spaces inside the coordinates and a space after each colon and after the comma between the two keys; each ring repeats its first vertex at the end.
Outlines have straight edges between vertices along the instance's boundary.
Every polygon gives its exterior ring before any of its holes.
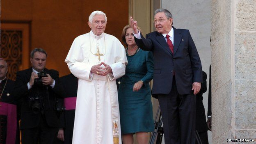
{"type": "MultiPolygon", "coordinates": [[[[59,73],[55,70],[44,69],[46,73],[55,80],[55,87],[47,86],[49,101],[45,95],[43,98],[44,111],[43,114],[46,117],[46,122],[50,127],[58,127],[58,119],[56,114],[56,98],[55,94],[62,95],[62,87],[59,82],[59,73]]],[[[18,71],[16,82],[14,86],[14,95],[16,98],[21,98],[21,129],[35,128],[39,126],[40,119],[42,117],[41,113],[34,114],[32,108],[29,107],[28,97],[32,94],[37,94],[37,87],[35,85],[29,90],[27,88],[27,83],[30,81],[30,76],[32,73],[32,67],[30,69],[25,69],[23,71],[18,71]]],[[[40,90],[46,87],[39,88],[40,90]]]]}

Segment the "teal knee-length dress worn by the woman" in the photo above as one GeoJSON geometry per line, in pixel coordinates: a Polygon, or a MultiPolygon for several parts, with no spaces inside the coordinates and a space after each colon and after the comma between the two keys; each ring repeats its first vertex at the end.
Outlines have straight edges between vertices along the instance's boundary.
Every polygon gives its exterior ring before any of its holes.
{"type": "Polygon", "coordinates": [[[126,74],[118,90],[121,133],[152,132],[154,120],[149,82],[153,79],[153,54],[139,49],[135,55],[126,56],[126,74]],[[133,85],[139,80],[144,85],[139,91],[133,91],[133,85]]]}

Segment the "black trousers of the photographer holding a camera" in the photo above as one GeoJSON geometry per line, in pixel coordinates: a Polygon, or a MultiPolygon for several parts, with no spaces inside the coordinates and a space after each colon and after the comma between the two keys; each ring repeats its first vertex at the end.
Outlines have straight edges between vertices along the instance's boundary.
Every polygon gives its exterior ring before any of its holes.
{"type": "Polygon", "coordinates": [[[22,144],[54,144],[57,134],[58,128],[49,127],[42,115],[38,127],[21,130],[21,142],[22,144]]]}

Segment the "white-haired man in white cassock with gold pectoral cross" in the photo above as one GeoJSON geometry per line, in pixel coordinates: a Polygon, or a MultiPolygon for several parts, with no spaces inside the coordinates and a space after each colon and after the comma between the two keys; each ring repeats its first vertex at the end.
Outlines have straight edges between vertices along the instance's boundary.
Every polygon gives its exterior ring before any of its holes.
{"type": "Polygon", "coordinates": [[[116,79],[125,74],[121,42],[104,33],[106,14],[89,16],[89,33],[75,38],[65,62],[79,78],[73,144],[121,144],[116,79]]]}

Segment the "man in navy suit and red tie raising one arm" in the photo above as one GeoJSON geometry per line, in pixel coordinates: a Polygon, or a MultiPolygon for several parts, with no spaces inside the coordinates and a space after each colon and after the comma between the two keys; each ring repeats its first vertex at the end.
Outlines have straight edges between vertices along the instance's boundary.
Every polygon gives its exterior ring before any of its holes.
{"type": "Polygon", "coordinates": [[[137,29],[137,21],[130,17],[137,46],[153,51],[152,95],[158,97],[160,104],[165,144],[194,144],[195,95],[201,88],[201,61],[189,30],[172,27],[172,21],[167,9],[157,9],[157,31],[144,38],[137,29]]]}

